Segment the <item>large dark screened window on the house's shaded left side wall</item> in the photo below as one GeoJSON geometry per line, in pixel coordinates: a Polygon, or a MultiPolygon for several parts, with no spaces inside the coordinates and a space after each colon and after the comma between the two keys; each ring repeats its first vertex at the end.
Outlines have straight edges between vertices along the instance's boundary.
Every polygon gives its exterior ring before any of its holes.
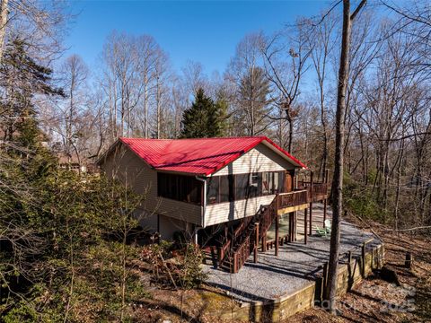
{"type": "Polygon", "coordinates": [[[157,173],[157,194],[177,201],[201,204],[202,184],[191,176],[157,173]]]}

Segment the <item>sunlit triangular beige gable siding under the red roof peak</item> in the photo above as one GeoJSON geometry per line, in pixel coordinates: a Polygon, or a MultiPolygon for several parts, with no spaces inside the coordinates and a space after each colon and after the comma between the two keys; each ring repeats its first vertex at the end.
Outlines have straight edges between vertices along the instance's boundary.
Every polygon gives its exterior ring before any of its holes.
{"type": "Polygon", "coordinates": [[[258,144],[251,151],[224,166],[216,175],[243,174],[260,171],[293,170],[295,166],[265,144],[258,144]]]}

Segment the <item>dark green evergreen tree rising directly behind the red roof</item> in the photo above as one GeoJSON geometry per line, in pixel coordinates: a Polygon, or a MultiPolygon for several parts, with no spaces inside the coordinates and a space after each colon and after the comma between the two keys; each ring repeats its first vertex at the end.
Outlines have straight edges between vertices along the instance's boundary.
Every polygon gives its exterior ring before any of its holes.
{"type": "Polygon", "coordinates": [[[227,104],[207,97],[203,89],[196,92],[195,101],[182,115],[182,138],[222,136],[226,129],[227,104]]]}

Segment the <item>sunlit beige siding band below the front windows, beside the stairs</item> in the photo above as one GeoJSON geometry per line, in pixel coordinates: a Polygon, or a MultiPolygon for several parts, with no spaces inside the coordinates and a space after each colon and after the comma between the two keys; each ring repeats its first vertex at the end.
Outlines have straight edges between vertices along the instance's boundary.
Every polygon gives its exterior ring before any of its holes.
{"type": "Polygon", "coordinates": [[[260,196],[247,200],[207,205],[204,215],[205,225],[209,226],[255,215],[261,205],[270,204],[274,197],[275,195],[260,196]]]}

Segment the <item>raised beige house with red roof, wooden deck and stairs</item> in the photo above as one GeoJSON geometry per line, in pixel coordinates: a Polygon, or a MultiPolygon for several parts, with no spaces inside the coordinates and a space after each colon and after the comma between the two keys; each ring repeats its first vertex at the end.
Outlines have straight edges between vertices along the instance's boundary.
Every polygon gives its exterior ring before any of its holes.
{"type": "MultiPolygon", "coordinates": [[[[267,245],[266,232],[278,215],[308,208],[317,198],[326,201],[325,183],[303,182],[298,189],[295,174],[306,166],[265,136],[119,138],[98,164],[145,194],[136,210],[145,214],[143,226],[162,239],[182,231],[201,246],[216,246],[219,265],[235,258],[235,270],[260,240],[267,245]]],[[[293,217],[292,224],[290,234],[293,217]]]]}

